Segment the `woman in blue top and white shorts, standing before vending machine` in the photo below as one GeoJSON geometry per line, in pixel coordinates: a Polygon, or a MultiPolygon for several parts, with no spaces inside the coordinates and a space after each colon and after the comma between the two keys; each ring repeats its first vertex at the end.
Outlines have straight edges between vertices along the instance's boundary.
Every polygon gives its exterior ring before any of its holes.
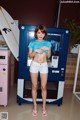
{"type": "Polygon", "coordinates": [[[35,40],[29,44],[29,57],[33,58],[30,65],[30,75],[32,82],[32,98],[33,98],[33,111],[32,115],[37,115],[37,83],[38,83],[38,72],[40,72],[41,78],[41,90],[43,100],[43,115],[47,115],[46,110],[46,97],[47,97],[47,78],[48,78],[48,64],[47,59],[51,56],[51,43],[44,38],[47,35],[46,27],[39,25],[35,29],[35,40]]]}

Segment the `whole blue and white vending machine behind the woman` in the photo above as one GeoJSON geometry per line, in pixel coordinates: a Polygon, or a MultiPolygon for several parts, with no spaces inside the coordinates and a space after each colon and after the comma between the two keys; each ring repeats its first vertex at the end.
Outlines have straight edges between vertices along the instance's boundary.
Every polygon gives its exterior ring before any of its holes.
{"type": "MultiPolygon", "coordinates": [[[[20,25],[20,45],[19,45],[19,69],[17,86],[17,103],[32,102],[31,78],[29,73],[32,61],[28,56],[28,44],[34,40],[34,30],[36,26],[20,25]]],[[[47,103],[62,104],[64,93],[64,80],[66,70],[66,59],[68,50],[69,30],[63,28],[47,27],[48,35],[46,40],[52,44],[51,57],[48,59],[48,84],[47,103]]],[[[42,102],[40,77],[38,80],[37,102],[42,102]]]]}

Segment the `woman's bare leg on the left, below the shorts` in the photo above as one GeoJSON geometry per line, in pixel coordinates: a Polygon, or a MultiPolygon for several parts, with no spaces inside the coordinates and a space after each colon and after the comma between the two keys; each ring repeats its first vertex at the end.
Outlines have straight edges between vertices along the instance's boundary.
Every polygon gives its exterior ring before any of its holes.
{"type": "Polygon", "coordinates": [[[31,74],[31,82],[32,82],[32,98],[33,98],[33,110],[37,111],[36,105],[36,97],[37,97],[37,78],[38,73],[30,73],[31,74]]]}

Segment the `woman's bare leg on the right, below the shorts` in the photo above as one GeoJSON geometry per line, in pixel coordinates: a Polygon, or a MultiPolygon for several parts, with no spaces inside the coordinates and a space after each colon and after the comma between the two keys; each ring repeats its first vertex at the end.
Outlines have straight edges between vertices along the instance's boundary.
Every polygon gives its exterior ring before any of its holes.
{"type": "Polygon", "coordinates": [[[42,90],[42,99],[43,99],[43,111],[46,111],[46,97],[47,97],[47,77],[48,74],[45,73],[40,73],[40,77],[41,77],[41,90],[42,90]]]}

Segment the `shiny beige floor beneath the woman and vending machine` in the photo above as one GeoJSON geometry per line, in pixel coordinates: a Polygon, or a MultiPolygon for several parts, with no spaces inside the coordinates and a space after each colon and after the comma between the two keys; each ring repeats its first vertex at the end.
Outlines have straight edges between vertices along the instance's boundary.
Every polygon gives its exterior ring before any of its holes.
{"type": "Polygon", "coordinates": [[[42,115],[42,106],[38,104],[38,114],[33,117],[32,104],[16,103],[16,87],[11,89],[7,107],[0,106],[0,112],[8,112],[8,120],[80,120],[80,101],[73,95],[71,89],[64,90],[61,106],[47,104],[48,116],[42,115]]]}

